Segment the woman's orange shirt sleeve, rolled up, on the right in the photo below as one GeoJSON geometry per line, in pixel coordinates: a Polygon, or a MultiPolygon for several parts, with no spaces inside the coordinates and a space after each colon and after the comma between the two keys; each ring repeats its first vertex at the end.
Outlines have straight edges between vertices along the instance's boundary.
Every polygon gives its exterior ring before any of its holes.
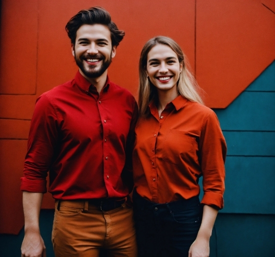
{"type": "Polygon", "coordinates": [[[201,203],[223,208],[226,143],[216,114],[205,118],[199,141],[203,198],[201,203]]]}

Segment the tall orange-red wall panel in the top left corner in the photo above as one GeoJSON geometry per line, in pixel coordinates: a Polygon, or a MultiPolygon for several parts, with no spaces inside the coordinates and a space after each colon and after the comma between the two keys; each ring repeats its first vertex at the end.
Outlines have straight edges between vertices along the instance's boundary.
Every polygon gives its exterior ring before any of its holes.
{"type": "Polygon", "coordinates": [[[1,0],[1,94],[35,94],[37,3],[1,0]]]}

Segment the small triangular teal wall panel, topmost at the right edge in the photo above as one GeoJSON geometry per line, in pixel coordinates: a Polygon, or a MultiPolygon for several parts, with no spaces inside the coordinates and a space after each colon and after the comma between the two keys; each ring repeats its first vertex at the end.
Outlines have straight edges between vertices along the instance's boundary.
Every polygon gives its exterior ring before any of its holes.
{"type": "Polygon", "coordinates": [[[275,91],[275,61],[273,61],[245,91],[275,91]]]}

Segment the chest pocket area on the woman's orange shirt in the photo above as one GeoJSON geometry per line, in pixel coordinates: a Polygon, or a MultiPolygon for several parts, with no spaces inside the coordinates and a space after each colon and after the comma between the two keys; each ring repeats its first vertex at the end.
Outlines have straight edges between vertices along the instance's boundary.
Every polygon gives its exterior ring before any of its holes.
{"type": "Polygon", "coordinates": [[[173,164],[194,162],[197,159],[195,139],[195,136],[186,131],[170,129],[163,142],[162,160],[173,164]]]}

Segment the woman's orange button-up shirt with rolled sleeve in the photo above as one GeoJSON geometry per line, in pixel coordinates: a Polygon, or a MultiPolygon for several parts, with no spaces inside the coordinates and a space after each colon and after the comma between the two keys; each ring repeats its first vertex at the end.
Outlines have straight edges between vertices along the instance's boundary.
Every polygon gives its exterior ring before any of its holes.
{"type": "Polygon", "coordinates": [[[223,208],[226,144],[215,113],[182,96],[166,105],[160,117],[149,105],[139,118],[133,151],[137,193],[153,203],[169,203],[199,194],[201,203],[223,208]]]}

